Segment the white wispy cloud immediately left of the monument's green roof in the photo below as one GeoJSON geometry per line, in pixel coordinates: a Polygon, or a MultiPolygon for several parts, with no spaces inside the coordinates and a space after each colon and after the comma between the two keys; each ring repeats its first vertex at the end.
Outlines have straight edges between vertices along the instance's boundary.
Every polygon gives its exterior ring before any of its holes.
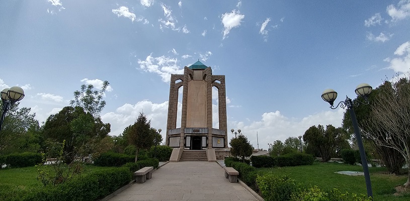
{"type": "Polygon", "coordinates": [[[162,81],[169,82],[171,74],[182,74],[184,69],[178,65],[177,58],[152,57],[152,53],[145,60],[138,59],[139,68],[145,72],[153,72],[161,76],[162,81]]]}

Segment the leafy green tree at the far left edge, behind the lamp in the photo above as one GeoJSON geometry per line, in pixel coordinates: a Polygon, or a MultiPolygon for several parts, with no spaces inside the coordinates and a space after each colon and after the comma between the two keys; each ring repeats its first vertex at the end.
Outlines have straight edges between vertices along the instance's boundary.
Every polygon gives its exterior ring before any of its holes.
{"type": "MultiPolygon", "coordinates": [[[[5,117],[0,132],[0,154],[21,152],[24,147],[35,150],[39,146],[39,140],[35,139],[38,137],[36,132],[40,130],[38,121],[34,119],[36,114],[30,114],[30,108],[19,109],[19,105],[19,102],[14,104],[5,117]]],[[[0,108],[3,108],[3,102],[0,102],[0,108]]]]}

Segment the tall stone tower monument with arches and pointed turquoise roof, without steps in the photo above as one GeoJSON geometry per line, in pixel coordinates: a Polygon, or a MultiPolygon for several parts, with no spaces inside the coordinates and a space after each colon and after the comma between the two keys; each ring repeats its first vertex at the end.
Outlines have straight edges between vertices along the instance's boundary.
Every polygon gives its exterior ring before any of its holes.
{"type": "Polygon", "coordinates": [[[172,74],[166,144],[182,150],[225,150],[227,142],[225,76],[212,75],[200,61],[172,74]],[[181,128],[177,128],[178,91],[183,87],[181,128]],[[218,89],[219,128],[212,128],[212,87],[218,89]]]}

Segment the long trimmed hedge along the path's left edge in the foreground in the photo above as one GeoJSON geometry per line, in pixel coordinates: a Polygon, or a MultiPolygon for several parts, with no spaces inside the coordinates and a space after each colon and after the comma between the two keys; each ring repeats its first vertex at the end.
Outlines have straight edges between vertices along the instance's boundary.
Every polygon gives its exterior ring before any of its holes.
{"type": "Polygon", "coordinates": [[[59,185],[19,191],[5,201],[96,200],[128,184],[132,174],[127,167],[113,167],[81,175],[59,185]]]}

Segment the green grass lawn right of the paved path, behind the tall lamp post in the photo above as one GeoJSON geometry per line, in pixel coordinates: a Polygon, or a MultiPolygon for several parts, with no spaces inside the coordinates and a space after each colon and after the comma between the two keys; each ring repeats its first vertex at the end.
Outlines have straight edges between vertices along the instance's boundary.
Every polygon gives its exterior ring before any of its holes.
{"type": "MultiPolygon", "coordinates": [[[[342,192],[367,194],[364,176],[349,176],[334,173],[336,171],[363,171],[362,166],[340,163],[319,163],[295,167],[258,168],[260,172],[272,172],[275,175],[288,174],[297,183],[318,186],[324,190],[338,188],[342,192]]],[[[386,168],[369,168],[374,200],[410,200],[410,194],[395,196],[394,187],[403,184],[406,175],[395,176],[386,173],[386,168]]]]}

